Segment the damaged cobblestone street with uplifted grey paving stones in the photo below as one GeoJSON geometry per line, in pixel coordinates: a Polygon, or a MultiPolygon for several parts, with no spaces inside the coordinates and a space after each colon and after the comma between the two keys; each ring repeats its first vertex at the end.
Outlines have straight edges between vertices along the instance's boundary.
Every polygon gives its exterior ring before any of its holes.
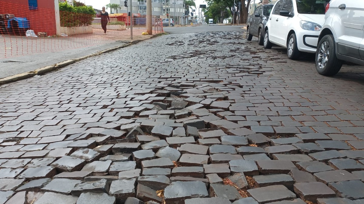
{"type": "Polygon", "coordinates": [[[363,77],[242,30],[2,85],[0,204],[363,204],[363,77]]]}

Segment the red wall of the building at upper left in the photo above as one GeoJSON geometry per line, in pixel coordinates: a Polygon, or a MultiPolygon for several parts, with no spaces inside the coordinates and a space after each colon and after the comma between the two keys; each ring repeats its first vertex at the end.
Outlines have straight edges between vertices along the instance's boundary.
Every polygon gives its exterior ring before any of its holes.
{"type": "Polygon", "coordinates": [[[37,0],[38,9],[29,10],[28,0],[0,0],[0,14],[11,13],[15,17],[26,17],[30,29],[46,32],[47,35],[56,34],[56,19],[54,0],[37,0]]]}

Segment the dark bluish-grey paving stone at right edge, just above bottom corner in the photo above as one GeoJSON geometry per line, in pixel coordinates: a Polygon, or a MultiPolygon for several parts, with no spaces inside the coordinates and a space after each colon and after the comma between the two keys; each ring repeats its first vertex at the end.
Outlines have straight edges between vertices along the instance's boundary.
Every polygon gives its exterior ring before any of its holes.
{"type": "Polygon", "coordinates": [[[343,198],[351,200],[364,198],[364,183],[359,180],[329,183],[329,187],[343,198]]]}

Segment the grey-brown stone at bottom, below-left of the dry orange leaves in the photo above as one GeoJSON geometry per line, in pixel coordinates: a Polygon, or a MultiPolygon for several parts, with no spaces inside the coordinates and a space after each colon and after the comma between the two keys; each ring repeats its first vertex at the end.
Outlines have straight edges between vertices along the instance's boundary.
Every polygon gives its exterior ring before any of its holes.
{"type": "Polygon", "coordinates": [[[242,198],[236,188],[223,184],[210,184],[209,195],[210,197],[221,197],[230,201],[242,198]]]}

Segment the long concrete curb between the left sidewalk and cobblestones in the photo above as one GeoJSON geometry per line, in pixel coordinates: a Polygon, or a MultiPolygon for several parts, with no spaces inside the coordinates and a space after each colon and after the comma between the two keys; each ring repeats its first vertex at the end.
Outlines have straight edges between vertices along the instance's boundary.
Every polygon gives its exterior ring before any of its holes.
{"type": "MultiPolygon", "coordinates": [[[[155,35],[151,36],[148,39],[158,37],[158,36],[162,36],[164,34],[167,34],[167,33],[165,33],[165,32],[158,33],[158,34],[155,34],[155,35]]],[[[128,42],[128,44],[117,46],[117,47],[114,47],[114,48],[109,48],[109,49],[106,49],[106,50],[102,50],[102,51],[96,52],[94,54],[89,54],[89,55],[84,56],[84,57],[79,57],[79,58],[75,58],[75,59],[71,59],[71,60],[66,60],[66,61],[59,62],[59,63],[54,64],[54,65],[51,65],[51,66],[45,66],[45,67],[33,70],[31,72],[26,72],[26,73],[22,73],[22,74],[15,74],[15,75],[10,76],[10,77],[5,77],[5,78],[0,79],[0,85],[3,85],[5,83],[19,81],[21,79],[30,78],[30,77],[33,77],[35,75],[43,75],[43,74],[46,74],[48,72],[52,72],[54,70],[63,68],[65,66],[67,66],[67,65],[74,64],[75,62],[78,62],[78,61],[81,61],[81,60],[84,60],[84,59],[87,59],[87,58],[90,58],[90,57],[98,56],[100,54],[108,53],[108,52],[111,52],[111,51],[114,51],[114,50],[117,50],[117,49],[120,49],[120,48],[125,48],[127,46],[134,45],[134,44],[137,44],[138,42],[148,40],[148,39],[130,41],[130,42],[128,42]]]]}

